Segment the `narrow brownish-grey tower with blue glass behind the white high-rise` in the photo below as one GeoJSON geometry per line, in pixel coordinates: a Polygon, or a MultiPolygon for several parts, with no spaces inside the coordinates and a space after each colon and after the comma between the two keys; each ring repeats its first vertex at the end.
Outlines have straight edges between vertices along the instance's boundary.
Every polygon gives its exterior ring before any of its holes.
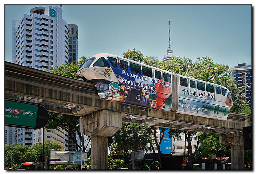
{"type": "Polygon", "coordinates": [[[78,60],[78,26],[68,24],[69,28],[69,62],[76,63],[78,60]]]}

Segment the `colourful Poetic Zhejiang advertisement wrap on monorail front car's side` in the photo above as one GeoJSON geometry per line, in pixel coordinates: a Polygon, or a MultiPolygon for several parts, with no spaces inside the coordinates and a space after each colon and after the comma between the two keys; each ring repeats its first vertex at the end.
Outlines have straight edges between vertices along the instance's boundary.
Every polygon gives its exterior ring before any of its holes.
{"type": "Polygon", "coordinates": [[[141,106],[148,108],[170,110],[172,85],[162,78],[156,80],[142,74],[132,74],[128,70],[122,70],[122,74],[116,78],[114,70],[110,68],[105,71],[94,68],[93,72],[97,78],[92,82],[100,98],[130,104],[140,102],[141,106]]]}

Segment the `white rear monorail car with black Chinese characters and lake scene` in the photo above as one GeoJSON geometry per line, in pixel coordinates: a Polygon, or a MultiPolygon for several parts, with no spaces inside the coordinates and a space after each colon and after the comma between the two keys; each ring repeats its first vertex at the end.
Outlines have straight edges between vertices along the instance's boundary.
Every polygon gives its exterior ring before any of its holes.
{"type": "Polygon", "coordinates": [[[227,119],[233,102],[226,87],[180,75],[178,84],[178,113],[227,119]]]}

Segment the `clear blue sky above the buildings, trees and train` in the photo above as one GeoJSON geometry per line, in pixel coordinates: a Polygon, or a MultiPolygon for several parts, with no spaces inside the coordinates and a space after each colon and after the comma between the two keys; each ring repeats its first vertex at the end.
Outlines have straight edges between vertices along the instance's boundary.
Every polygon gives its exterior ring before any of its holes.
{"type": "MultiPolygon", "coordinates": [[[[12,62],[12,20],[37,6],[4,6],[4,59],[12,62]]],[[[51,5],[58,6],[60,5],[51,5]]],[[[128,49],[162,60],[171,22],[173,55],[209,56],[215,63],[252,64],[251,5],[62,5],[62,18],[78,26],[78,58],[128,49]]]]}

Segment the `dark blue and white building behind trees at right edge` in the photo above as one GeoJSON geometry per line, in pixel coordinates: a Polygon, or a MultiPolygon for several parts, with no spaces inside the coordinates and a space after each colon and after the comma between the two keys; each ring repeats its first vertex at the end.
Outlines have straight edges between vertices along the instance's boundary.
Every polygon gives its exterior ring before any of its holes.
{"type": "Polygon", "coordinates": [[[230,78],[236,80],[238,88],[243,88],[242,94],[246,94],[244,100],[248,100],[249,103],[246,104],[249,108],[252,107],[252,66],[245,63],[238,64],[237,66],[230,67],[230,70],[233,72],[230,74],[230,78]]]}

